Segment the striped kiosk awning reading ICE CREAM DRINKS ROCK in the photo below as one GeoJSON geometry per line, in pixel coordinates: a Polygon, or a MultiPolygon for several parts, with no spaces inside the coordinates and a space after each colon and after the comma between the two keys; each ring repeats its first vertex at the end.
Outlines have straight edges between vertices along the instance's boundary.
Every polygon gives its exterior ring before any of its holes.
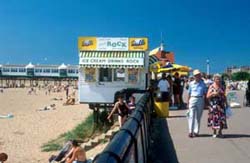
{"type": "Polygon", "coordinates": [[[82,51],[81,67],[142,68],[145,52],[135,51],[82,51]]]}

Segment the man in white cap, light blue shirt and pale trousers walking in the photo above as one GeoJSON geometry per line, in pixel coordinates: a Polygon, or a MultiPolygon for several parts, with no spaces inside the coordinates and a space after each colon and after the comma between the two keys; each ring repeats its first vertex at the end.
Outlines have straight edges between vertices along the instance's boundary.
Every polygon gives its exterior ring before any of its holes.
{"type": "Polygon", "coordinates": [[[200,130],[200,120],[205,105],[206,85],[201,79],[199,70],[193,71],[194,81],[189,84],[188,88],[188,128],[190,138],[198,136],[200,130]]]}

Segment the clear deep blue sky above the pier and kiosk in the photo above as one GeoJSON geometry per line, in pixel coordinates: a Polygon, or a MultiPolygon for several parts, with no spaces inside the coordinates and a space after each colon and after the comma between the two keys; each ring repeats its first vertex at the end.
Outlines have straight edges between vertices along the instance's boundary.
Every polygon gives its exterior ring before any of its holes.
{"type": "Polygon", "coordinates": [[[212,72],[250,65],[249,0],[1,0],[0,63],[77,64],[79,36],[149,38],[212,72]]]}

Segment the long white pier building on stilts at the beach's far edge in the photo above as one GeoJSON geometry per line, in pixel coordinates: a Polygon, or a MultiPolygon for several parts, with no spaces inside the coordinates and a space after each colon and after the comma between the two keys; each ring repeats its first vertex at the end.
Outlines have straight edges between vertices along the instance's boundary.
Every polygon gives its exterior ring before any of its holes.
{"type": "Polygon", "coordinates": [[[78,71],[79,68],[76,65],[2,64],[0,65],[0,87],[31,86],[39,82],[46,84],[49,81],[77,81],[78,71]]]}

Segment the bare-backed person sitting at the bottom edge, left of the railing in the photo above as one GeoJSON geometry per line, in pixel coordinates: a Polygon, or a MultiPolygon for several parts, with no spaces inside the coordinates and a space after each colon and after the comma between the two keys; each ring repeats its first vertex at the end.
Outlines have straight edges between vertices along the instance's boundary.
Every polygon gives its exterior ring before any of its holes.
{"type": "Polygon", "coordinates": [[[66,163],[87,163],[86,153],[76,140],[72,140],[72,157],[66,163]]]}

